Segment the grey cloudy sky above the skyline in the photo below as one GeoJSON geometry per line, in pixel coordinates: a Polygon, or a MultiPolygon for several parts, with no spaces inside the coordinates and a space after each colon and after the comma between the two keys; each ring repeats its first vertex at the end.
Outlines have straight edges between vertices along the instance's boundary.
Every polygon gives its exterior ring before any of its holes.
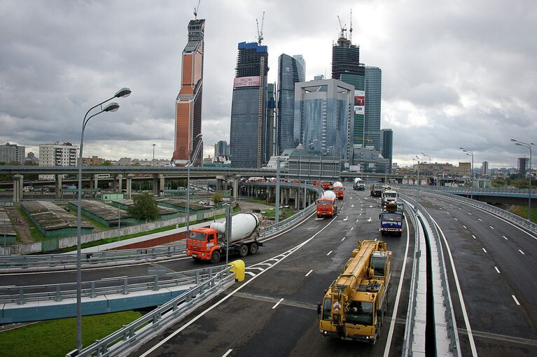
{"type": "MultiPolygon", "coordinates": [[[[85,112],[130,87],[116,113],[92,119],[84,156],[169,159],[186,27],[197,0],[0,0],[0,142],[38,153],[80,142],[85,112]]],[[[202,133],[205,155],[228,140],[237,43],[256,40],[265,11],[269,80],[281,53],[305,57],[307,80],[330,76],[337,15],[382,69],[382,124],[394,162],[516,166],[537,144],[537,2],[534,0],[202,0],[206,19],[202,133]],[[426,158],[428,160],[428,158],[426,158]]],[[[537,153],[537,151],[536,151],[537,153]]]]}

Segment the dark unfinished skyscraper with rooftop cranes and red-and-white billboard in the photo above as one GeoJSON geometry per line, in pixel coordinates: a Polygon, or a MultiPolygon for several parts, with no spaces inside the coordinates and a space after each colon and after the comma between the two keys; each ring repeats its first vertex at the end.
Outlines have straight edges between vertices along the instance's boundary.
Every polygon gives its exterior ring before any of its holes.
{"type": "MultiPolygon", "coordinates": [[[[371,145],[365,141],[365,66],[360,63],[360,47],[342,33],[332,46],[332,78],[354,85],[353,144],[371,145]]],[[[378,148],[378,147],[377,147],[378,148]]]]}

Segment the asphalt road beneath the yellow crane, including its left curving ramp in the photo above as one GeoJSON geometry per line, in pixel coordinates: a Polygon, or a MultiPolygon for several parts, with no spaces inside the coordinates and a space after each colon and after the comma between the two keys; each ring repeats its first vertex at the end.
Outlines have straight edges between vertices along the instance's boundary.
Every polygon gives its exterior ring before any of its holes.
{"type": "MultiPolygon", "coordinates": [[[[298,227],[265,241],[257,255],[246,257],[246,281],[236,283],[184,321],[141,346],[140,356],[382,356],[400,354],[405,329],[408,291],[412,267],[409,254],[405,280],[399,296],[396,319],[393,306],[400,286],[405,253],[413,251],[413,239],[384,237],[393,251],[392,288],[389,310],[379,342],[375,346],[323,338],[319,332],[316,304],[324,289],[336,279],[351,258],[358,239],[382,239],[379,233],[379,198],[369,191],[346,186],[335,218],[312,215],[298,227]],[[212,308],[211,308],[212,307],[212,308]],[[389,342],[389,343],[387,343],[389,342]]],[[[413,237],[412,227],[410,228],[413,237]]],[[[154,266],[155,264],[153,264],[154,266]]],[[[206,266],[191,258],[159,262],[169,272],[206,266]]],[[[84,269],[83,280],[147,274],[148,265],[112,269],[84,269]]],[[[71,282],[75,272],[6,275],[0,285],[71,282]]]]}

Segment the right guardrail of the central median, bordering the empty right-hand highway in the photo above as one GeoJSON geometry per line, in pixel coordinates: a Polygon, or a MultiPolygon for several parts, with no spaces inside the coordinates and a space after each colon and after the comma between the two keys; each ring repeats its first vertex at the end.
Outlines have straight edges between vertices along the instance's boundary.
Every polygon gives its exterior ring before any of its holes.
{"type": "MultiPolygon", "coordinates": [[[[445,319],[447,322],[447,333],[450,340],[450,351],[454,354],[454,356],[461,356],[461,346],[459,343],[459,332],[456,328],[456,321],[455,321],[455,313],[453,309],[453,303],[451,298],[451,293],[449,292],[449,282],[447,278],[447,269],[445,267],[445,260],[444,260],[444,252],[442,250],[442,244],[440,241],[440,234],[438,233],[438,229],[436,228],[435,223],[433,222],[433,218],[427,213],[427,211],[424,209],[421,204],[416,202],[414,199],[407,195],[401,195],[401,197],[404,200],[407,200],[407,202],[410,202],[414,205],[414,207],[417,207],[417,211],[421,212],[421,215],[425,218],[428,225],[431,227],[431,231],[433,233],[433,237],[436,242],[437,251],[438,251],[438,262],[440,263],[440,276],[441,276],[441,283],[442,288],[444,290],[444,293],[442,294],[444,298],[444,306],[445,306],[445,319]]],[[[403,350],[404,351],[404,350],[403,350]]],[[[408,356],[408,355],[405,355],[408,356]]]]}

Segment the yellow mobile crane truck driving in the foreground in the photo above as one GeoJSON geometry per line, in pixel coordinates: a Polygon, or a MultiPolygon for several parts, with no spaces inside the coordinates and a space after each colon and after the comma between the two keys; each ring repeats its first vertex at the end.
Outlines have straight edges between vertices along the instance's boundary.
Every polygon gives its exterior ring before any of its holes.
{"type": "Polygon", "coordinates": [[[391,251],[384,241],[358,241],[344,272],[317,305],[323,336],[375,344],[391,285],[391,251]]]}

